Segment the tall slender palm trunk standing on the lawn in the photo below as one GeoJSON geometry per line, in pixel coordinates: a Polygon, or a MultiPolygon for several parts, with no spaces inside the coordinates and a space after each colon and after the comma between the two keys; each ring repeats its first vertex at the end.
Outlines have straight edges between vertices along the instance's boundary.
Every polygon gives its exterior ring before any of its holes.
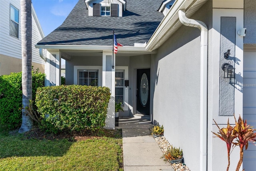
{"type": "Polygon", "coordinates": [[[22,125],[19,133],[29,131],[33,121],[26,113],[32,100],[32,15],[31,0],[20,1],[22,48],[22,125]]]}

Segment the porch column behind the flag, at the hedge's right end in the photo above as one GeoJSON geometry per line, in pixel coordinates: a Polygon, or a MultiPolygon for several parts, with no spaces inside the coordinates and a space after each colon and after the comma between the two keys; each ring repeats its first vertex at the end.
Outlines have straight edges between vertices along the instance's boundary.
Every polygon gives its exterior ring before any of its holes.
{"type": "Polygon", "coordinates": [[[102,53],[102,87],[109,87],[111,93],[105,126],[107,129],[115,129],[115,67],[112,68],[112,59],[112,52],[102,53]]]}

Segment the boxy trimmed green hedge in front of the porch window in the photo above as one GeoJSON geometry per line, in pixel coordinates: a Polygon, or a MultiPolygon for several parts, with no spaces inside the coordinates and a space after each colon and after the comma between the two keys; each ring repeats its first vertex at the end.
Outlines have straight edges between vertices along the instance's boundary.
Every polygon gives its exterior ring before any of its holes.
{"type": "Polygon", "coordinates": [[[56,133],[105,126],[110,89],[82,85],[60,85],[37,89],[36,106],[41,128],[56,133]]]}

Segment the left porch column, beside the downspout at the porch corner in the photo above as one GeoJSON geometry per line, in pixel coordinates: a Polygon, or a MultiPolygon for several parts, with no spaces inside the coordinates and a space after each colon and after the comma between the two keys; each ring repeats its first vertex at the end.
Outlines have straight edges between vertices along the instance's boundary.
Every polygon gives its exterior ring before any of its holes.
{"type": "Polygon", "coordinates": [[[46,74],[45,86],[60,85],[61,78],[61,52],[48,51],[44,72],[46,74]]]}

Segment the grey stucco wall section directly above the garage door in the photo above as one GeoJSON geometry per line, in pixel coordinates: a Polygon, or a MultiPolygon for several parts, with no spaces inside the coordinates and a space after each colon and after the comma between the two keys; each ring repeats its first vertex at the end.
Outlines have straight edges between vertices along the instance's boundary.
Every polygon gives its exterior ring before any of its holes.
{"type": "Polygon", "coordinates": [[[244,28],[246,28],[245,44],[256,44],[256,1],[244,0],[244,28]]]}

